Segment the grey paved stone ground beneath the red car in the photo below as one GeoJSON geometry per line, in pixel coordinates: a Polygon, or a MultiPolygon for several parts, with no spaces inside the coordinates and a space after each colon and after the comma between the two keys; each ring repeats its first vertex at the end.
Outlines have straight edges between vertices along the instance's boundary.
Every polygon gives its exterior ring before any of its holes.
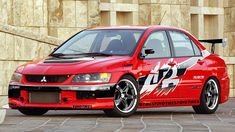
{"type": "Polygon", "coordinates": [[[191,107],[142,109],[129,118],[106,117],[102,111],[49,111],[44,116],[24,116],[7,110],[3,131],[235,131],[235,98],[220,105],[215,114],[195,114],[191,107]]]}

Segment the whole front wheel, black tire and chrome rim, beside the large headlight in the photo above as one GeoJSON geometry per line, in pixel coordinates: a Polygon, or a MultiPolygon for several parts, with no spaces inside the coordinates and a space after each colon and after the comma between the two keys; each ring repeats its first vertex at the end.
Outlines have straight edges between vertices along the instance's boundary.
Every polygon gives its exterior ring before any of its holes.
{"type": "Polygon", "coordinates": [[[108,116],[130,116],[139,104],[137,81],[131,76],[124,76],[116,85],[114,92],[114,109],[104,110],[108,116]]]}

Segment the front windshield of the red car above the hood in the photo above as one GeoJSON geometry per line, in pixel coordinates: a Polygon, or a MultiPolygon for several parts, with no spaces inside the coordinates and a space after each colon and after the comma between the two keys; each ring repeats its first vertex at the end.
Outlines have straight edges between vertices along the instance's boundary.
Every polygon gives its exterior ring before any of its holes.
{"type": "Polygon", "coordinates": [[[143,30],[85,30],[70,38],[53,54],[132,55],[142,33],[143,30]]]}

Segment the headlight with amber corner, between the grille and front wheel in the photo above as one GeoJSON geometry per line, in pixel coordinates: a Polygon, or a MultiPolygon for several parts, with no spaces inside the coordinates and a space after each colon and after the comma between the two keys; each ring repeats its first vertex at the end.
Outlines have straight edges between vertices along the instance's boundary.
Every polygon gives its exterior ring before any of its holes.
{"type": "Polygon", "coordinates": [[[111,73],[78,74],[72,82],[109,82],[111,73]]]}

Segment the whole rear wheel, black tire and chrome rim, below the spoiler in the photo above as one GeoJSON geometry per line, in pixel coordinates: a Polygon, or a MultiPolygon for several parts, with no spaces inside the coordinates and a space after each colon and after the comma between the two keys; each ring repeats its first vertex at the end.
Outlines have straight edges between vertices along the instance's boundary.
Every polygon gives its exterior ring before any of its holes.
{"type": "Polygon", "coordinates": [[[199,106],[193,106],[193,110],[197,113],[197,114],[212,114],[215,113],[215,111],[217,110],[218,106],[219,106],[219,99],[220,99],[220,87],[219,87],[219,83],[216,79],[214,78],[210,78],[206,81],[202,93],[201,93],[201,97],[200,97],[200,105],[199,106]],[[210,96],[208,95],[208,86],[211,83],[211,85],[214,85],[213,89],[214,92],[209,92],[210,96]],[[216,90],[217,88],[217,90],[216,90]],[[217,93],[216,93],[217,91],[217,93]],[[211,98],[211,99],[208,99],[211,98]],[[212,100],[212,101],[211,101],[212,100]],[[214,101],[213,101],[214,100],[214,101]]]}

